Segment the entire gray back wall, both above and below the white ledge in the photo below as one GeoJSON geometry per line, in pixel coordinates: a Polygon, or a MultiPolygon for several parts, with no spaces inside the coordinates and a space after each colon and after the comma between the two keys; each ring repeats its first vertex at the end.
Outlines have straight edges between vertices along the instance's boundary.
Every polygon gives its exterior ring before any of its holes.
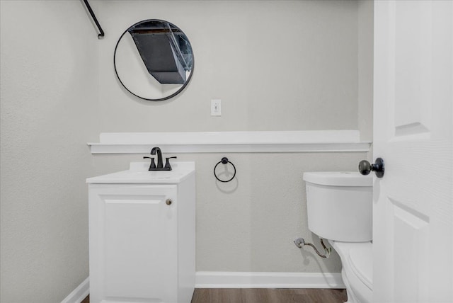
{"type": "MultiPolygon", "coordinates": [[[[372,45],[364,38],[359,45],[359,20],[367,16],[358,15],[357,1],[94,4],[108,28],[99,47],[102,132],[348,130],[359,129],[359,108],[366,114],[372,108],[368,95],[358,104],[359,71],[369,73],[365,52],[372,45]],[[132,96],[113,69],[117,39],[148,18],[178,25],[193,45],[195,74],[171,101],[132,96]],[[222,117],[210,116],[212,98],[222,99],[222,117]]],[[[372,37],[369,30],[362,35],[372,37]]],[[[371,125],[360,125],[369,140],[371,125]]],[[[96,156],[95,163],[108,173],[141,156],[96,156]]],[[[312,239],[302,174],[353,171],[365,158],[365,153],[178,155],[197,164],[197,270],[339,272],[336,254],[321,260],[301,255],[292,243],[299,236],[312,239]],[[212,176],[222,156],[238,169],[234,182],[219,184],[212,176]]]]}

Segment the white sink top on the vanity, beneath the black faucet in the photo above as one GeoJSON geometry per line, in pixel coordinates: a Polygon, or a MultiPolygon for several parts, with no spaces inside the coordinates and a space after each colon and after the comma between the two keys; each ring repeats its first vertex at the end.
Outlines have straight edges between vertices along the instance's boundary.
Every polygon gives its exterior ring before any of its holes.
{"type": "Polygon", "coordinates": [[[148,171],[149,161],[131,162],[127,171],[87,178],[86,183],[180,183],[195,173],[195,162],[171,162],[171,171],[148,171]]]}

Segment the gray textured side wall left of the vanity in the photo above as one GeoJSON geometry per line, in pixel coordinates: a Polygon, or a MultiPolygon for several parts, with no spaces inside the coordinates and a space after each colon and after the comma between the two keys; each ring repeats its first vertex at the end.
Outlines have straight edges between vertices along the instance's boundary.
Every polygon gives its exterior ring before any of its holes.
{"type": "Polygon", "coordinates": [[[0,301],[61,302],[88,276],[98,40],[80,1],[0,11],[0,301]]]}

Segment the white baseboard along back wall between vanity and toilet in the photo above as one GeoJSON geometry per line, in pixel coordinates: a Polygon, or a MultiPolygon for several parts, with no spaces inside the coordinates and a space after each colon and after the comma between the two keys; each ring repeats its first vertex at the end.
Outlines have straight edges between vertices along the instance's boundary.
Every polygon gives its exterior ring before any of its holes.
{"type": "Polygon", "coordinates": [[[197,271],[195,288],[345,288],[340,273],[197,271]]]}

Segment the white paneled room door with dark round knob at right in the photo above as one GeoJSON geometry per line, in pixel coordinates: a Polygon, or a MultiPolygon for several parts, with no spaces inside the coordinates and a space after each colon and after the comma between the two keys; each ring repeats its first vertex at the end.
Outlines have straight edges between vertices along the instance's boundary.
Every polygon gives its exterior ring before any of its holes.
{"type": "Polygon", "coordinates": [[[374,2],[374,302],[453,302],[453,1],[374,2]]]}

